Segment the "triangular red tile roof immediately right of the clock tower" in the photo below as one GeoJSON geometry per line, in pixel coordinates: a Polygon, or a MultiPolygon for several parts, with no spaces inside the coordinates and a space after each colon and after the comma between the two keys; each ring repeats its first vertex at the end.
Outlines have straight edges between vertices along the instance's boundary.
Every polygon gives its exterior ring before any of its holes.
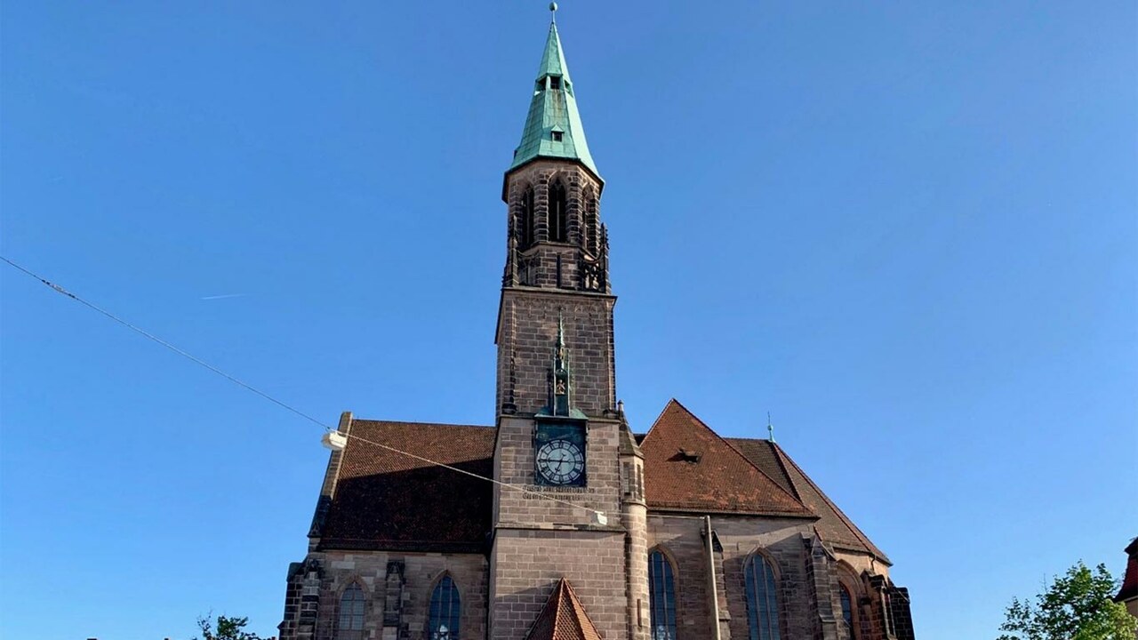
{"type": "Polygon", "coordinates": [[[641,442],[649,509],[814,517],[673,399],[641,442]]]}

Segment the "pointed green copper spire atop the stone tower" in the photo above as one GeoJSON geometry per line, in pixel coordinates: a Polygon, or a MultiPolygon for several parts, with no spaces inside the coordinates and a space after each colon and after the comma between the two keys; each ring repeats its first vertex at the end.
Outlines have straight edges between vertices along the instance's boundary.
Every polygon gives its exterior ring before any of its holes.
{"type": "MultiPolygon", "coordinates": [[[[550,10],[555,11],[555,5],[551,5],[550,10]]],[[[569,65],[561,50],[558,25],[551,22],[542,66],[537,69],[534,98],[529,102],[529,115],[521,132],[521,142],[513,151],[511,171],[538,157],[564,158],[580,162],[600,178],[585,142],[585,128],[580,124],[575,92],[576,88],[569,79],[569,65]]]]}

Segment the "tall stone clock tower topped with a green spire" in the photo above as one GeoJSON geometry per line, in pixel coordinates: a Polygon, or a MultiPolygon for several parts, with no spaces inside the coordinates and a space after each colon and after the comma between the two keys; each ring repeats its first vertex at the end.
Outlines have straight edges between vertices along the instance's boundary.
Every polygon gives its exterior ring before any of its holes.
{"type": "Polygon", "coordinates": [[[632,629],[634,602],[646,602],[627,580],[643,564],[642,460],[616,401],[603,188],[554,22],[502,189],[494,474],[527,489],[495,489],[495,640],[526,637],[562,579],[604,638],[646,637],[632,629]]]}

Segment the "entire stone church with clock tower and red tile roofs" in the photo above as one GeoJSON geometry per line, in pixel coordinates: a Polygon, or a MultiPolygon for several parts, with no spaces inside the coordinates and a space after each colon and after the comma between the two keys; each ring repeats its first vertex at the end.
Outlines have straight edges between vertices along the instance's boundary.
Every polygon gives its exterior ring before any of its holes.
{"type": "Polygon", "coordinates": [[[604,180],[555,24],[533,82],[489,424],[340,417],[281,640],[913,639],[889,558],[773,438],[676,400],[625,419],[604,180]]]}

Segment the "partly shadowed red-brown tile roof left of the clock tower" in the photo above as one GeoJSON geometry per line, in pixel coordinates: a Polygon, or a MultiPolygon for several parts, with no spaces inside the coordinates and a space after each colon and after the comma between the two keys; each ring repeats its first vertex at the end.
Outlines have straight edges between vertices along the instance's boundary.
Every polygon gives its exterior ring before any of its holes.
{"type": "Polygon", "coordinates": [[[370,443],[493,477],[496,429],[352,420],[348,435],[320,549],[485,550],[490,483],[370,443]]]}

